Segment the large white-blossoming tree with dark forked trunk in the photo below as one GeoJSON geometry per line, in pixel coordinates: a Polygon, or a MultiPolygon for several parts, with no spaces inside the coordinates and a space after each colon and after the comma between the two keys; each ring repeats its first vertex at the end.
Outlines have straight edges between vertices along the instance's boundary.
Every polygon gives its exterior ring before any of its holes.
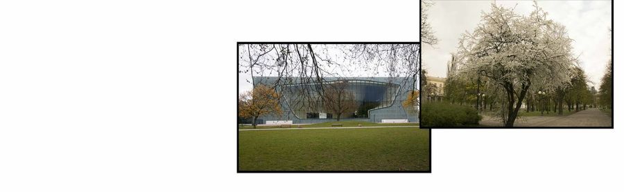
{"type": "Polygon", "coordinates": [[[570,81],[572,39],[564,26],[546,15],[537,3],[528,16],[492,3],[474,31],[460,39],[460,73],[483,77],[503,90],[505,126],[514,125],[532,86],[552,90],[570,81]]]}

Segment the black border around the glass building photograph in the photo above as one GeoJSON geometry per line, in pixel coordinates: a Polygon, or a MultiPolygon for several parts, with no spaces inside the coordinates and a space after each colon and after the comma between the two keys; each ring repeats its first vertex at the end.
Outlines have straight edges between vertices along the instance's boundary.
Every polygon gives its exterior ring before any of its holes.
{"type": "Polygon", "coordinates": [[[237,41],[236,42],[236,173],[431,173],[431,130],[429,130],[429,169],[424,171],[245,171],[239,167],[239,45],[241,44],[418,44],[419,67],[422,44],[419,41],[237,41]]]}

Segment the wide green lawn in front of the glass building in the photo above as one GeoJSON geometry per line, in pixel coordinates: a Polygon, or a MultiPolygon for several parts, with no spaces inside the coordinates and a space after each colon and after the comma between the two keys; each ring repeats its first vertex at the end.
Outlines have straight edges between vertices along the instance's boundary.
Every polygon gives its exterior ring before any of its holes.
{"type": "Polygon", "coordinates": [[[429,171],[429,130],[239,131],[240,171],[429,171]]]}

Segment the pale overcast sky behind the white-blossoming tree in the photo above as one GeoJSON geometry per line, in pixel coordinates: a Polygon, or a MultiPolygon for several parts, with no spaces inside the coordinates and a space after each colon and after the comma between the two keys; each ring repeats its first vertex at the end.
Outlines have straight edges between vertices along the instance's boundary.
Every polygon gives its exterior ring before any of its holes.
{"type": "MultiPolygon", "coordinates": [[[[433,2],[428,10],[428,22],[439,42],[434,46],[423,45],[422,68],[428,75],[446,77],[447,61],[451,52],[456,52],[460,35],[476,28],[481,12],[489,12],[492,2],[433,2]]],[[[496,1],[496,4],[515,7],[520,15],[529,15],[534,10],[532,1],[496,1]]],[[[611,1],[538,1],[538,5],[548,12],[548,18],[566,26],[569,37],[574,39],[574,55],[579,56],[581,67],[592,81],[590,84],[598,88],[611,58],[611,1]]]]}

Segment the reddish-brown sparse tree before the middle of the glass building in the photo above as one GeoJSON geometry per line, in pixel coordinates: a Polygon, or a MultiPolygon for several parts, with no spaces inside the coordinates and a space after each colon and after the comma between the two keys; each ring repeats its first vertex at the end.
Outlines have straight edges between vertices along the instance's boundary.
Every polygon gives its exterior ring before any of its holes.
{"type": "Polygon", "coordinates": [[[336,114],[336,120],[340,121],[340,116],[356,111],[357,103],[355,96],[348,89],[345,81],[327,84],[323,92],[323,106],[326,111],[336,114]]]}

